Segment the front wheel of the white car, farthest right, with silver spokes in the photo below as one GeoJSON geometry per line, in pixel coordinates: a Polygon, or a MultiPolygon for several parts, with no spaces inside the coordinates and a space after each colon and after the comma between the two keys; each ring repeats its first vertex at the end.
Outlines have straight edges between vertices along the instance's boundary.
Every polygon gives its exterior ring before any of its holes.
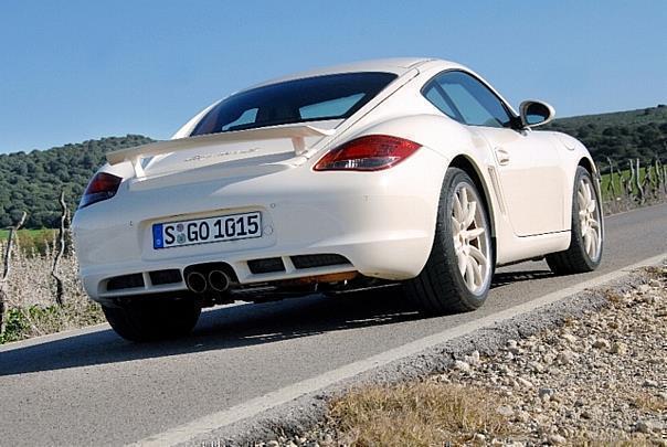
{"type": "Polygon", "coordinates": [[[547,256],[557,275],[592,272],[602,260],[604,231],[600,194],[589,171],[579,167],[572,194],[572,232],[570,247],[547,256]]]}

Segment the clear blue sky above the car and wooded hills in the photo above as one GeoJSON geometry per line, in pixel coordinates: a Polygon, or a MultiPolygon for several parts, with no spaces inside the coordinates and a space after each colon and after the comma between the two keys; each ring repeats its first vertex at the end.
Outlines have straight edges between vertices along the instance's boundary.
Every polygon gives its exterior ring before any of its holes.
{"type": "Polygon", "coordinates": [[[294,71],[425,55],[559,116],[667,103],[667,1],[31,1],[0,4],[0,152],[168,138],[294,71]]]}

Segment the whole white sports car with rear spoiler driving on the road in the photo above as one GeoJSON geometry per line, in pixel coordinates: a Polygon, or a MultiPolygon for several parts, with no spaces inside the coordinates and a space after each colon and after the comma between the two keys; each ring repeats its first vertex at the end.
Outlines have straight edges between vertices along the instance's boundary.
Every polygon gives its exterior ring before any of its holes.
{"type": "Polygon", "coordinates": [[[73,222],[81,277],[130,340],[201,308],[401,285],[475,309],[496,266],[602,256],[599,173],[527,100],[433,58],[317,70],[235,93],[171,140],[107,155],[73,222]]]}

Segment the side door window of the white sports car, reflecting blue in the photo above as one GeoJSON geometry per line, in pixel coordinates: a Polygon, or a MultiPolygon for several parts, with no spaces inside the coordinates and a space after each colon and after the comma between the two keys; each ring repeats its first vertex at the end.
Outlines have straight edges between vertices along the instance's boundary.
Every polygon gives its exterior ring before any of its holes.
{"type": "Polygon", "coordinates": [[[500,99],[475,77],[463,72],[445,72],[435,82],[456,107],[463,123],[509,127],[511,119],[500,99]]]}

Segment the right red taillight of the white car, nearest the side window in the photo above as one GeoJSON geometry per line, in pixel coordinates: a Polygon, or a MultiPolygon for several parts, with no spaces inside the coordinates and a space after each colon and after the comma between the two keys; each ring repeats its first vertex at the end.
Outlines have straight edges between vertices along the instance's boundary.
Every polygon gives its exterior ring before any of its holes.
{"type": "Polygon", "coordinates": [[[316,171],[379,171],[412,156],[421,146],[388,135],[359,137],[331,150],[317,164],[316,171]]]}

